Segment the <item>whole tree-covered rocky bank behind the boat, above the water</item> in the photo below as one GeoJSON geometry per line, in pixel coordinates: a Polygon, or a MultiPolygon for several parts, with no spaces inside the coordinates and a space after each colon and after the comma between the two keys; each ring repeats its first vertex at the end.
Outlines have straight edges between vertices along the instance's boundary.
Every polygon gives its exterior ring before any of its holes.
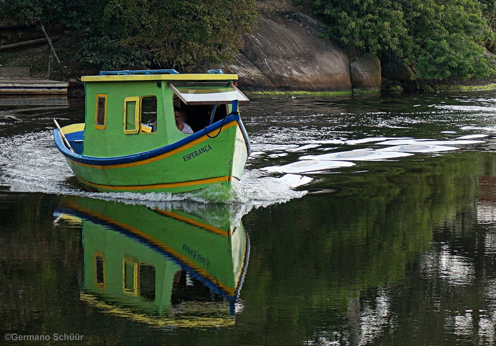
{"type": "Polygon", "coordinates": [[[238,73],[253,96],[496,90],[496,0],[178,0],[166,6],[158,0],[0,0],[0,6],[6,37],[0,66],[29,66],[35,77],[76,88],[81,75],[100,70],[221,67],[238,73]],[[273,38],[270,28],[287,32],[273,38]],[[291,41],[298,35],[308,47],[291,41]],[[44,43],[18,46],[23,42],[14,37],[44,43]],[[309,57],[326,50],[338,58],[309,57]],[[298,66],[305,57],[309,65],[298,66]]]}

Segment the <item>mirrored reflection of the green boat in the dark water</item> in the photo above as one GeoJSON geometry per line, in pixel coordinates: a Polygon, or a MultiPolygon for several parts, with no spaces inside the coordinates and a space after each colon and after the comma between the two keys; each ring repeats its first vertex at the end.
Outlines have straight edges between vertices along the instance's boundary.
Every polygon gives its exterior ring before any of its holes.
{"type": "Polygon", "coordinates": [[[64,198],[61,205],[61,218],[82,225],[82,301],[159,328],[235,323],[249,255],[242,212],[90,198],[64,198]]]}

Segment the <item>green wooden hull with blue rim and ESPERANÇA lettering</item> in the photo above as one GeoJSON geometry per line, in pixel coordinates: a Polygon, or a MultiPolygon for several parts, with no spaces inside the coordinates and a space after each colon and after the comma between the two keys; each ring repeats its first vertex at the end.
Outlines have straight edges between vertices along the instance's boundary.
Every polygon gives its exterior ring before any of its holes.
{"type": "Polygon", "coordinates": [[[123,157],[72,153],[63,145],[58,130],[54,130],[54,139],[77,179],[91,190],[179,193],[211,184],[230,186],[241,179],[250,150],[248,137],[239,116],[226,120],[180,142],[123,157]]]}

